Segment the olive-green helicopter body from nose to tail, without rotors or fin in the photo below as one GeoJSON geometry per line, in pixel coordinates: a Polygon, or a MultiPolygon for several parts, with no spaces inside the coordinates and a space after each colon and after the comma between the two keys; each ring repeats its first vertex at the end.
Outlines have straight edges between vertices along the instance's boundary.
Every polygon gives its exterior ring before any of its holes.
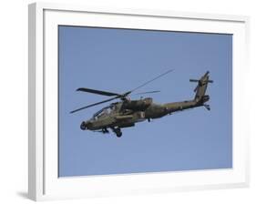
{"type": "Polygon", "coordinates": [[[147,97],[140,100],[118,102],[112,106],[98,111],[91,119],[84,121],[81,128],[89,130],[100,130],[103,128],[128,128],[145,120],[155,119],[171,115],[173,112],[182,111],[192,107],[203,106],[209,97],[205,96],[203,101],[185,100],[174,103],[156,104],[152,98],[147,97]]]}

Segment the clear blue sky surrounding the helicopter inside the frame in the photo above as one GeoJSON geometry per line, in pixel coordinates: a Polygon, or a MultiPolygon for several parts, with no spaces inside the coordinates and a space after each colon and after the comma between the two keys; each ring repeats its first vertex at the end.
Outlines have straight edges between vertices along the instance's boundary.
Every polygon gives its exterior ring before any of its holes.
{"type": "Polygon", "coordinates": [[[232,168],[231,75],[231,35],[59,26],[59,176],[232,168]],[[189,78],[209,70],[211,110],[138,123],[122,138],[79,128],[108,103],[69,114],[108,98],[78,87],[124,93],[169,69],[138,92],[160,90],[143,96],[157,103],[190,99],[189,78]]]}

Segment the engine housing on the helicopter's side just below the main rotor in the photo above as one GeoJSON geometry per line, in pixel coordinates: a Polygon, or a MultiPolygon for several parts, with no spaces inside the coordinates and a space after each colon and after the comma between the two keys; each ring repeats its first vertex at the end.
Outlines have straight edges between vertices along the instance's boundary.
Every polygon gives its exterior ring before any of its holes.
{"type": "Polygon", "coordinates": [[[153,100],[151,97],[146,97],[140,100],[127,100],[123,103],[122,109],[130,109],[130,110],[146,110],[151,104],[153,100]]]}

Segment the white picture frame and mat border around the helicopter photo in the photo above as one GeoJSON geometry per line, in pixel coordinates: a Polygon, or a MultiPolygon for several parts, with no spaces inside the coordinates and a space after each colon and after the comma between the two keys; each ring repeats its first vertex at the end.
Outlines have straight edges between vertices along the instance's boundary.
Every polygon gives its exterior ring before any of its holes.
{"type": "Polygon", "coordinates": [[[244,90],[249,71],[249,17],[35,3],[29,12],[30,199],[74,199],[225,189],[249,185],[244,90]],[[57,25],[124,27],[233,35],[233,168],[97,177],[57,177],[57,25]]]}

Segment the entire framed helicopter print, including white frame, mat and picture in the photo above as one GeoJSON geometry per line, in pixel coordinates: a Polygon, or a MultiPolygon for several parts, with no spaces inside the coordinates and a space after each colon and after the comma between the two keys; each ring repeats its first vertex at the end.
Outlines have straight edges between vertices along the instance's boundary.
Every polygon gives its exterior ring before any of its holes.
{"type": "Polygon", "coordinates": [[[248,22],[29,5],[29,198],[248,186],[248,22]]]}

